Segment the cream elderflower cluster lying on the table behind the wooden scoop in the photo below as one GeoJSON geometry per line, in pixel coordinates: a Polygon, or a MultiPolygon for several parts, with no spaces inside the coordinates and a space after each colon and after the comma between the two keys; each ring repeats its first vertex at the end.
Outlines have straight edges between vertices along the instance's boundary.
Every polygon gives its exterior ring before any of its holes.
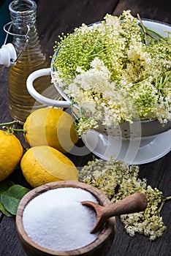
{"type": "Polygon", "coordinates": [[[138,178],[138,173],[137,165],[129,166],[125,162],[114,159],[107,162],[94,159],[80,170],[79,181],[100,189],[111,200],[111,203],[132,195],[134,192],[144,194],[148,200],[148,207],[145,211],[121,215],[121,222],[129,236],[140,233],[153,241],[166,229],[158,210],[163,195],[159,189],[149,186],[145,178],[138,178]]]}

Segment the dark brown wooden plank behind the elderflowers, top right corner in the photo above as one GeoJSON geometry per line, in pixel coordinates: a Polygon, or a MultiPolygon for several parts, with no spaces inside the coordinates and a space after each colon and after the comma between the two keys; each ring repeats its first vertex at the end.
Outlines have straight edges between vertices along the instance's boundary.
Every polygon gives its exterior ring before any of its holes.
{"type": "Polygon", "coordinates": [[[118,1],[113,15],[121,15],[123,10],[131,10],[134,16],[139,12],[142,18],[171,23],[170,0],[121,0],[118,1]]]}

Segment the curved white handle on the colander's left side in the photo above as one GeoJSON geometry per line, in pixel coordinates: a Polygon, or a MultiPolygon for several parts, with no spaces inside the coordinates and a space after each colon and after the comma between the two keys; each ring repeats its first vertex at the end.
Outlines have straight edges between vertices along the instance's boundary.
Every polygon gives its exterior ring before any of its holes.
{"type": "Polygon", "coordinates": [[[34,89],[34,86],[33,86],[34,80],[39,78],[39,77],[42,77],[44,75],[50,75],[50,68],[38,69],[38,70],[32,72],[28,76],[27,81],[26,81],[26,86],[27,86],[27,90],[28,90],[29,94],[31,94],[31,96],[34,99],[37,99],[38,102],[41,102],[45,105],[58,107],[58,108],[69,108],[69,107],[71,107],[71,102],[56,100],[56,99],[49,99],[45,96],[42,96],[41,94],[39,94],[34,89]]]}

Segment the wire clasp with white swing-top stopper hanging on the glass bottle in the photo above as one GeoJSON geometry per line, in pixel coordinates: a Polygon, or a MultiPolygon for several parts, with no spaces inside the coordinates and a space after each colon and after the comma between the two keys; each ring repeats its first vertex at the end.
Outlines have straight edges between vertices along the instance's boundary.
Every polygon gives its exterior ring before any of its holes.
{"type": "Polygon", "coordinates": [[[27,25],[26,34],[14,34],[10,32],[11,27],[12,27],[12,21],[4,25],[4,31],[7,33],[7,35],[4,39],[4,44],[0,48],[0,64],[4,65],[5,67],[14,66],[16,64],[16,62],[20,58],[20,55],[26,49],[29,41],[28,33],[30,31],[30,27],[28,25],[27,25]],[[10,42],[7,43],[9,34],[13,37],[25,37],[26,39],[26,43],[23,46],[23,48],[20,50],[20,53],[18,53],[18,56],[17,56],[14,45],[12,45],[12,43],[10,42]]]}

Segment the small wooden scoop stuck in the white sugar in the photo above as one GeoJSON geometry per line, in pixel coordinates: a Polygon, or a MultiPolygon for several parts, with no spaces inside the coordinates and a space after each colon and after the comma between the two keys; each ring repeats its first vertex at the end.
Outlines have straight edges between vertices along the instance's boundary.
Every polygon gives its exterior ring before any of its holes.
{"type": "Polygon", "coordinates": [[[83,201],[81,203],[83,206],[88,206],[96,211],[96,225],[91,230],[91,233],[96,233],[110,217],[144,211],[148,205],[145,195],[138,192],[109,206],[100,206],[98,203],[91,201],[83,201]]]}

